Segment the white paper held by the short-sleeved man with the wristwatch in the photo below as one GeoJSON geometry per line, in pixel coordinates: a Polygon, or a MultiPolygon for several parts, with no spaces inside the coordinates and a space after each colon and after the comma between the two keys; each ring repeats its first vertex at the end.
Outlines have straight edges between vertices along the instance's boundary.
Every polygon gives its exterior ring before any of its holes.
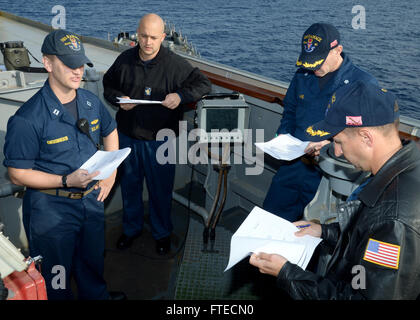
{"type": "Polygon", "coordinates": [[[80,169],[85,169],[89,173],[99,171],[100,173],[94,180],[106,179],[118,168],[130,152],[131,148],[124,148],[116,151],[98,150],[89,158],[89,160],[82,164],[80,169]]]}

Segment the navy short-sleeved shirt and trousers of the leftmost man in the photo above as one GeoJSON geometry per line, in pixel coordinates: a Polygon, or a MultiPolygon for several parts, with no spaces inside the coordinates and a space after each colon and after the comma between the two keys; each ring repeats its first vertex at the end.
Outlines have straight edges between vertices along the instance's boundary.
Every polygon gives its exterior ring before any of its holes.
{"type": "MultiPolygon", "coordinates": [[[[77,90],[77,109],[79,118],[88,120],[96,143],[100,136],[106,137],[116,128],[104,105],[87,90],[77,90]]],[[[60,103],[48,81],[9,119],[4,147],[6,167],[65,175],[77,170],[95,152],[96,146],[78,130],[76,119],[60,103]]],[[[104,206],[96,200],[98,195],[99,189],[82,199],[49,195],[32,188],[25,192],[23,223],[30,255],[43,257],[48,299],[72,298],[71,275],[79,299],[109,297],[103,279],[104,206]],[[63,270],[65,284],[60,281],[63,270]]]]}

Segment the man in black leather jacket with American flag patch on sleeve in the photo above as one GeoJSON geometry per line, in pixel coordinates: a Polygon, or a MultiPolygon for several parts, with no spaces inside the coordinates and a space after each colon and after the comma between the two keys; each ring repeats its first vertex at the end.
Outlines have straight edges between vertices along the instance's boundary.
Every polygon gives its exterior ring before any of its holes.
{"type": "Polygon", "coordinates": [[[301,226],[296,236],[321,237],[333,250],[324,275],[281,255],[251,256],[250,263],[277,277],[292,298],[419,299],[420,151],[414,141],[400,140],[398,123],[395,96],[358,81],[338,89],[324,120],[307,128],[308,140],[332,138],[336,156],[372,177],[354,200],[337,208],[347,222],[294,223],[301,226]]]}

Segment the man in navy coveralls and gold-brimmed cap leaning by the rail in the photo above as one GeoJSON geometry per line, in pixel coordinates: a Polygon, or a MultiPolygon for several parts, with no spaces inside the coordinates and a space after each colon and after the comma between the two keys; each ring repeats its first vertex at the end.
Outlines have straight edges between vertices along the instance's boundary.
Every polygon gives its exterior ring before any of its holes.
{"type": "MultiPolygon", "coordinates": [[[[311,25],[302,36],[302,51],[284,98],[284,112],[277,134],[291,134],[305,141],[306,128],[324,118],[333,92],[357,80],[377,84],[367,72],[353,65],[343,52],[338,30],[327,23],[311,25]]],[[[283,162],[272,179],[263,208],[289,221],[297,221],[313,199],[321,172],[313,158],[329,141],[311,142],[303,156],[283,162]]]]}

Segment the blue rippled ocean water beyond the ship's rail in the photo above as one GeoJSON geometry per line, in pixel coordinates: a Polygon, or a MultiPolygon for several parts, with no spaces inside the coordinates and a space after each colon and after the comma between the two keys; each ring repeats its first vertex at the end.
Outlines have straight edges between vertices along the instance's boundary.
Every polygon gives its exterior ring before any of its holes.
{"type": "MultiPolygon", "coordinates": [[[[134,32],[155,12],[175,24],[207,60],[289,82],[303,32],[314,22],[334,24],[344,51],[395,93],[401,113],[420,120],[420,6],[395,0],[0,0],[0,9],[51,24],[52,8],[66,10],[66,29],[113,39],[134,32]],[[365,27],[354,28],[362,6],[365,27]]],[[[1,27],[1,26],[0,26],[1,27]]]]}

